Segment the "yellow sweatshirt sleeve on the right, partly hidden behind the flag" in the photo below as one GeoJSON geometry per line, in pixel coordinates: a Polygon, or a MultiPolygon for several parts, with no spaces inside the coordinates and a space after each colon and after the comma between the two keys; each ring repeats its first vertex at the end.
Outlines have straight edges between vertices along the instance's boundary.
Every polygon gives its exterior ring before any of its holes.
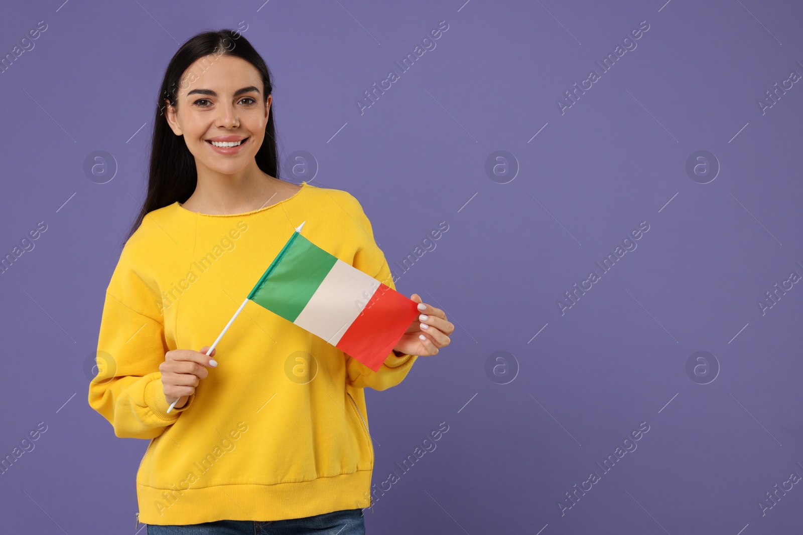
{"type": "MultiPolygon", "coordinates": [[[[354,255],[353,266],[396,290],[396,286],[393,284],[393,274],[391,274],[390,266],[385,260],[385,253],[382,253],[377,246],[377,242],[373,239],[371,222],[365,216],[360,202],[351,194],[347,194],[344,204],[344,208],[349,211],[349,214],[357,223],[355,233],[357,234],[359,246],[357,253],[354,255]]],[[[417,355],[396,356],[393,351],[390,351],[379,371],[373,371],[359,360],[353,359],[349,355],[345,355],[345,357],[346,383],[353,387],[371,387],[374,390],[385,390],[401,383],[407,372],[413,367],[415,360],[418,359],[417,355]]]]}

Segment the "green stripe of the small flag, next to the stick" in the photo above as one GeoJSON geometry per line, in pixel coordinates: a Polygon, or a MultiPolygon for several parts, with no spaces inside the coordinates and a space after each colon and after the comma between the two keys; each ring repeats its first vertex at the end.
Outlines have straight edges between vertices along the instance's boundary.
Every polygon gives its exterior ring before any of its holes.
{"type": "Polygon", "coordinates": [[[337,257],[293,233],[248,298],[295,322],[336,261],[337,257]]]}

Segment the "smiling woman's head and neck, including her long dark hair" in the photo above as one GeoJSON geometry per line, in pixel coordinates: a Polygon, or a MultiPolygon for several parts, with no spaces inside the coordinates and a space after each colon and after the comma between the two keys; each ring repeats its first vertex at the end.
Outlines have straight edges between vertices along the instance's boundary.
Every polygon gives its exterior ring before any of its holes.
{"type": "Polygon", "coordinates": [[[277,178],[271,79],[236,30],[198,34],[176,52],[158,93],[148,196],[126,241],[149,212],[174,201],[242,213],[298,191],[277,178]]]}

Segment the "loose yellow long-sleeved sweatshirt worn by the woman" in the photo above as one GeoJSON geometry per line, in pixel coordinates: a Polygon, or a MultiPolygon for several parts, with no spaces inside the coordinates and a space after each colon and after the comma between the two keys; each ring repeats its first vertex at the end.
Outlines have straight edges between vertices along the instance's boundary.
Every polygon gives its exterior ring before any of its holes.
{"type": "Polygon", "coordinates": [[[363,388],[400,383],[416,355],[391,352],[373,372],[248,302],[216,347],[218,367],[167,413],[165,353],[211,346],[302,221],[313,243],[395,288],[357,199],[306,182],[247,213],[153,210],[120,253],[88,399],[116,436],[151,440],[137,471],[139,521],[274,521],[371,505],[363,388]]]}

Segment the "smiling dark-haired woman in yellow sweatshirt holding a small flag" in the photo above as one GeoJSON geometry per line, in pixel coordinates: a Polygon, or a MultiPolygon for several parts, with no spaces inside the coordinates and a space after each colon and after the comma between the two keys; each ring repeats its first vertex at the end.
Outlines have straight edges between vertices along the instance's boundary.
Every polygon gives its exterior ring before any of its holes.
{"type": "Polygon", "coordinates": [[[148,194],[108,284],[89,387],[116,436],[150,439],[137,471],[149,535],[365,533],[381,491],[363,389],[400,383],[454,330],[413,294],[422,315],[374,372],[250,303],[205,355],[303,221],[313,243],[394,287],[356,198],[279,180],[271,91],[231,30],[187,41],[161,84],[148,194]]]}

